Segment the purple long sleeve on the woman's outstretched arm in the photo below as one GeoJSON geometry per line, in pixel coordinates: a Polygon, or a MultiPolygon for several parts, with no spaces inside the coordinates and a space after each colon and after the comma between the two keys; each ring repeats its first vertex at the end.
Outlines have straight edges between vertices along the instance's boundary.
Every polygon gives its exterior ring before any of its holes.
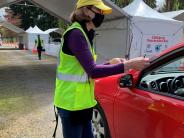
{"type": "Polygon", "coordinates": [[[79,29],[73,29],[68,33],[64,46],[68,46],[72,55],[77,58],[91,78],[106,77],[124,72],[123,63],[116,65],[96,64],[87,41],[79,29]]]}

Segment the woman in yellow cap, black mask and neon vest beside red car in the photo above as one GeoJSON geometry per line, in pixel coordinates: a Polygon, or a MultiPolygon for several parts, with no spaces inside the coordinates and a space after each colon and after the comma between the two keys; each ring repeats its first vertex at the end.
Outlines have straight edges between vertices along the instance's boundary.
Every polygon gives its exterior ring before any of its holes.
{"type": "Polygon", "coordinates": [[[63,34],[57,68],[54,104],[62,120],[64,138],[93,138],[91,119],[95,78],[128,71],[141,70],[144,58],[124,61],[114,58],[105,65],[97,65],[93,48],[94,29],[112,9],[101,0],[79,0],[71,15],[72,25],[63,34]]]}

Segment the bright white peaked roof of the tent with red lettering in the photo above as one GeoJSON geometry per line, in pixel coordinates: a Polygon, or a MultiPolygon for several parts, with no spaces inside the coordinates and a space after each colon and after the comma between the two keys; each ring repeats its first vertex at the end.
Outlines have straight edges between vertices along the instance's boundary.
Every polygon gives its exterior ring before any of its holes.
{"type": "Polygon", "coordinates": [[[175,21],[174,19],[166,17],[156,10],[152,9],[143,0],[134,0],[131,4],[123,8],[123,11],[132,17],[140,16],[145,18],[175,21]]]}

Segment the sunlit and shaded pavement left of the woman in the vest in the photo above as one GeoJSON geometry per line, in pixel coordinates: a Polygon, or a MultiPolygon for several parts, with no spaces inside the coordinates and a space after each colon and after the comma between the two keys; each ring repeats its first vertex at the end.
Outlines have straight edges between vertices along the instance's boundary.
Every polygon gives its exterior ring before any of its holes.
{"type": "Polygon", "coordinates": [[[52,137],[55,74],[54,57],[0,50],[0,138],[52,137]]]}

